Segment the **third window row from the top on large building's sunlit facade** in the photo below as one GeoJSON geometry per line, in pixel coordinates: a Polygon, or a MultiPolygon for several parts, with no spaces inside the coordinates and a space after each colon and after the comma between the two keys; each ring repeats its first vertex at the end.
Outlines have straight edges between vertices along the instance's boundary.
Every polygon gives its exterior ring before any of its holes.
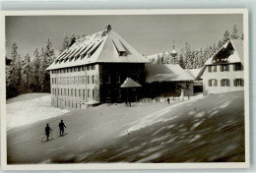
{"type": "Polygon", "coordinates": [[[86,100],[86,98],[96,98],[96,89],[52,88],[52,94],[55,96],[78,97],[86,100]]]}

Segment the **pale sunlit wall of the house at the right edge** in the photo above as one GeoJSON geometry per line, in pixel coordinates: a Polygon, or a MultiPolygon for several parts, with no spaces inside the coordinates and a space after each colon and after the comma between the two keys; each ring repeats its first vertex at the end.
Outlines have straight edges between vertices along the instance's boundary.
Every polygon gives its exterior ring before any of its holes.
{"type": "Polygon", "coordinates": [[[235,90],[243,90],[243,70],[235,71],[233,68],[233,64],[228,64],[228,71],[222,72],[221,71],[222,65],[217,65],[216,72],[209,72],[207,66],[204,74],[203,74],[203,94],[208,95],[210,93],[220,93],[220,92],[227,92],[227,91],[235,91],[235,90]],[[209,85],[209,80],[217,80],[217,86],[212,85],[212,87],[209,85]],[[229,85],[222,87],[221,82],[224,79],[229,80],[229,85]],[[234,85],[235,79],[242,79],[242,86],[236,87],[234,85]]]}

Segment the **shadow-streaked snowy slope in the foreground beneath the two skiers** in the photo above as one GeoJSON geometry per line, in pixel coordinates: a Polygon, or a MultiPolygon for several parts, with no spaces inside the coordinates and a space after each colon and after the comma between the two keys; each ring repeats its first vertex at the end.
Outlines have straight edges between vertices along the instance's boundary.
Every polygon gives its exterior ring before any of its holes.
{"type": "Polygon", "coordinates": [[[244,161],[243,91],[101,105],[8,131],[9,163],[244,161]],[[63,119],[68,135],[58,138],[63,119]],[[45,123],[54,140],[41,143],[45,123]]]}

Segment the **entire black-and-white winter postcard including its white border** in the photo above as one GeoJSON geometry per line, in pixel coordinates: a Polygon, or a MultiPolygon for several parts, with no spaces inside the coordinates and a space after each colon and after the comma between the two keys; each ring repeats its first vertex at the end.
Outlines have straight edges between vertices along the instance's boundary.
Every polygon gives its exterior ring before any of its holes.
{"type": "Polygon", "coordinates": [[[6,168],[248,167],[246,9],[3,18],[6,168]]]}

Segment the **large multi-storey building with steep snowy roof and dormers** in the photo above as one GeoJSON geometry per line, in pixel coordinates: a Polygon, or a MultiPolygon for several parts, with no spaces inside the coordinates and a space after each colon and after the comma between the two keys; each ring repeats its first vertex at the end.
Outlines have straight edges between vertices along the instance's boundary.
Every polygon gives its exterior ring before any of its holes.
{"type": "MultiPolygon", "coordinates": [[[[127,97],[121,86],[127,78],[143,86],[148,62],[108,25],[106,30],[77,39],[47,68],[51,104],[83,109],[102,102],[122,102],[127,97]]],[[[137,89],[130,89],[136,99],[140,97],[137,89]]]]}

